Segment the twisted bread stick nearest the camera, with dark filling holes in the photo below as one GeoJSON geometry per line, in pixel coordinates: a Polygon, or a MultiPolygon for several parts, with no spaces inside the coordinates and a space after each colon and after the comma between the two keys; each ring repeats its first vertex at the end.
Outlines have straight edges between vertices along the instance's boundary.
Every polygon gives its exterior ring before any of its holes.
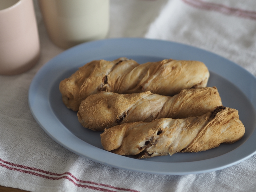
{"type": "Polygon", "coordinates": [[[149,158],[177,152],[199,152],[243,137],[238,111],[219,106],[212,112],[187,119],[157,119],[126,123],[100,135],[105,150],[119,155],[149,158]]]}

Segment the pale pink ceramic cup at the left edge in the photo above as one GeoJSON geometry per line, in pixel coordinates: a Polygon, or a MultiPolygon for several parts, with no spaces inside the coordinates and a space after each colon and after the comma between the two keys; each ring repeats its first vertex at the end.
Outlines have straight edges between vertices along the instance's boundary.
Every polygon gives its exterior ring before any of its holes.
{"type": "Polygon", "coordinates": [[[32,0],[0,0],[0,74],[29,70],[40,45],[32,0]]]}

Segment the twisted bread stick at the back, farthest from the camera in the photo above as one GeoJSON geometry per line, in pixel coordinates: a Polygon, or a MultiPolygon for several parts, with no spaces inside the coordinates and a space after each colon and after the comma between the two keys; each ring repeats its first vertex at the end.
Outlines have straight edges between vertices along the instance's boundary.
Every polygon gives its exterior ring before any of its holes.
{"type": "Polygon", "coordinates": [[[60,82],[64,104],[78,111],[80,103],[100,91],[120,94],[151,91],[173,96],[183,89],[205,87],[209,71],[199,61],[165,59],[139,65],[134,60],[91,61],[60,82]]]}

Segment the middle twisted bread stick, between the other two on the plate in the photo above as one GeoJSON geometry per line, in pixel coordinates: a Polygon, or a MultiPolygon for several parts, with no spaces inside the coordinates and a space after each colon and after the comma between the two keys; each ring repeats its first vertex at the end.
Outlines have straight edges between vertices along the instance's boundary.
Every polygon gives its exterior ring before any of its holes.
{"type": "Polygon", "coordinates": [[[77,116],[84,127],[103,131],[122,123],[199,116],[219,105],[216,87],[184,89],[173,97],[150,91],[125,95],[102,91],[83,100],[77,116]]]}

